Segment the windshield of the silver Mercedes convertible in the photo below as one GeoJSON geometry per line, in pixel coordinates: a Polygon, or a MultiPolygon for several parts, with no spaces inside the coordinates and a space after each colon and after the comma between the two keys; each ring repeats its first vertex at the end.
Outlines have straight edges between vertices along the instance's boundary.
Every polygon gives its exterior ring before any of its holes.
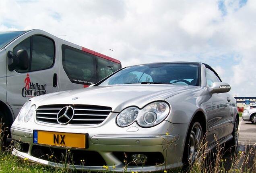
{"type": "Polygon", "coordinates": [[[156,83],[199,86],[199,64],[159,63],[130,66],[99,85],[156,83]]]}

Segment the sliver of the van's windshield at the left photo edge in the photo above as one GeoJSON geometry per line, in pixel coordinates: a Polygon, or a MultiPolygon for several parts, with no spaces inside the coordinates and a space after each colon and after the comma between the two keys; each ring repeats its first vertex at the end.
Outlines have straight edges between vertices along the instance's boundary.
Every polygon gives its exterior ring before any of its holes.
{"type": "Polygon", "coordinates": [[[8,31],[0,32],[0,49],[2,49],[8,42],[17,38],[26,31],[8,31]]]}

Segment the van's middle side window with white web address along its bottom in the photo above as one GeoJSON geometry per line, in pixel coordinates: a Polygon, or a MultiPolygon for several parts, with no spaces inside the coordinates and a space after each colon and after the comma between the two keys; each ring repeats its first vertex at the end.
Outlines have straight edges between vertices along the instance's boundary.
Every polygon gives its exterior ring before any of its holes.
{"type": "Polygon", "coordinates": [[[95,56],[82,50],[62,45],[63,68],[72,83],[96,83],[95,56]]]}

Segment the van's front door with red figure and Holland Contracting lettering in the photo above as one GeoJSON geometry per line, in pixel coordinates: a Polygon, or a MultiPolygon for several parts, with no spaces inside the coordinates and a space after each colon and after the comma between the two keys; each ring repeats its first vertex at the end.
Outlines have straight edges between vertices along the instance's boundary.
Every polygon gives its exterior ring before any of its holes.
{"type": "Polygon", "coordinates": [[[6,46],[6,52],[16,54],[23,49],[27,50],[29,56],[27,70],[17,67],[13,71],[7,69],[6,72],[7,103],[15,117],[30,98],[57,91],[59,63],[55,39],[50,34],[32,31],[6,46]]]}

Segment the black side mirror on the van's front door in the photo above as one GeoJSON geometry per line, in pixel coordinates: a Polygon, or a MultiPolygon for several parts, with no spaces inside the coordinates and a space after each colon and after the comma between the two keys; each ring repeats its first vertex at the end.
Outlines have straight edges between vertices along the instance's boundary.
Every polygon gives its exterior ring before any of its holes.
{"type": "Polygon", "coordinates": [[[8,64],[10,71],[13,71],[16,67],[19,67],[21,70],[27,70],[27,68],[29,68],[29,55],[26,50],[18,50],[17,55],[12,51],[8,51],[7,56],[10,58],[8,64]]]}

